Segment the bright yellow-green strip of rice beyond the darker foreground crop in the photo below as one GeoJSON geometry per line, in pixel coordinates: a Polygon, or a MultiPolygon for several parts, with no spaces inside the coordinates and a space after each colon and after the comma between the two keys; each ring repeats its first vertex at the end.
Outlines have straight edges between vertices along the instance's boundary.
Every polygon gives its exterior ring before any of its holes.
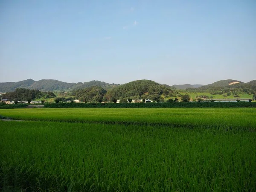
{"type": "Polygon", "coordinates": [[[255,108],[6,109],[6,118],[122,125],[240,128],[256,131],[255,108]]]}

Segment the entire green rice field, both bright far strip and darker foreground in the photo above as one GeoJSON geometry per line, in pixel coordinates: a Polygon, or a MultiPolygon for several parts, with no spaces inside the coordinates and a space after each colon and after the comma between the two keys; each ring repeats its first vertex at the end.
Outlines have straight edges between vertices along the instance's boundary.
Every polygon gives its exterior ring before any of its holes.
{"type": "Polygon", "coordinates": [[[5,109],[0,190],[253,191],[255,108],[5,109]]]}

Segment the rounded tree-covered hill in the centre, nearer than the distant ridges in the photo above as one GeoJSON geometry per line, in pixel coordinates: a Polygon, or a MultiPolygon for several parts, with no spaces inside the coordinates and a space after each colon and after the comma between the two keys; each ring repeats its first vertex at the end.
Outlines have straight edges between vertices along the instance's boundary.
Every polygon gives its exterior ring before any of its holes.
{"type": "Polygon", "coordinates": [[[151,80],[137,80],[114,87],[105,94],[107,100],[111,98],[131,99],[161,99],[164,96],[173,96],[175,90],[169,86],[151,80]]]}

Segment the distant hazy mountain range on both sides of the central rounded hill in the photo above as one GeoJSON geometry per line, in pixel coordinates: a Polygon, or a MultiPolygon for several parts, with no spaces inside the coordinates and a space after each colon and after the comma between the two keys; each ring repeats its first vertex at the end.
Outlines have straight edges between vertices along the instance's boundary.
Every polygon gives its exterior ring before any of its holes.
{"type": "MultiPolygon", "coordinates": [[[[142,81],[142,80],[141,80],[142,81]]],[[[166,87],[171,87],[169,85],[163,84],[166,87]]],[[[233,80],[233,79],[227,79],[227,80],[221,80],[216,81],[212,84],[202,85],[202,84],[175,84],[172,87],[176,89],[198,89],[198,90],[207,90],[211,89],[213,87],[221,87],[221,88],[227,88],[227,87],[250,87],[250,86],[256,86],[256,80],[244,83],[241,81],[233,80]],[[235,82],[235,84],[230,85],[230,83],[235,82]]],[[[38,89],[40,91],[69,91],[69,90],[77,90],[81,88],[87,88],[87,87],[103,87],[105,90],[109,90],[113,87],[118,87],[119,84],[110,84],[103,81],[88,81],[88,82],[78,82],[78,83],[66,83],[54,79],[41,79],[39,81],[34,81],[33,79],[27,79],[24,81],[18,81],[18,82],[4,82],[0,83],[0,92],[12,92],[16,88],[26,88],[26,89],[38,89]]]]}

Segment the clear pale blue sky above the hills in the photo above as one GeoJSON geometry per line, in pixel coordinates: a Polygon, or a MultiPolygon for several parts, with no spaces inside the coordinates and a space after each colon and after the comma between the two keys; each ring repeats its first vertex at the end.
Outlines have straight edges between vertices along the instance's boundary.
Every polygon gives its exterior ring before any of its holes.
{"type": "Polygon", "coordinates": [[[0,82],[256,79],[255,0],[1,0],[0,82]]]}

